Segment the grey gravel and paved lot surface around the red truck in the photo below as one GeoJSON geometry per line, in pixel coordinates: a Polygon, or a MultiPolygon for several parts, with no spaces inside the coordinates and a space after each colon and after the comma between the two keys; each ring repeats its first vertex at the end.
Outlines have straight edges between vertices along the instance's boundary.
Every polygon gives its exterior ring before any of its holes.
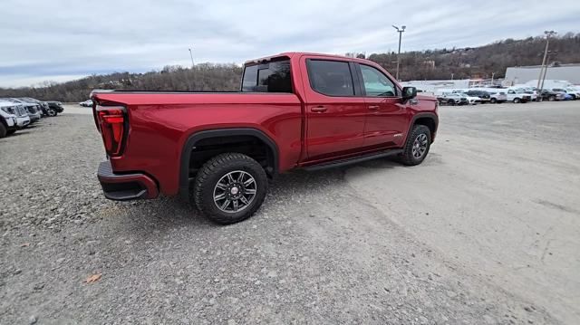
{"type": "Polygon", "coordinates": [[[423,165],[283,175],[229,226],[105,200],[89,111],[0,139],[0,323],[580,323],[577,102],[441,108],[423,165]]]}

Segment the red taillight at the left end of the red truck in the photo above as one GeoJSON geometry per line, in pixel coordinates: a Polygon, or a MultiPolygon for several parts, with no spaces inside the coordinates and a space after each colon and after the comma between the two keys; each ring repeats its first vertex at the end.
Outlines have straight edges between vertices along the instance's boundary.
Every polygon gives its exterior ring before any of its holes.
{"type": "Polygon", "coordinates": [[[105,150],[111,157],[121,156],[126,131],[126,110],[122,106],[97,106],[97,122],[105,150]]]}

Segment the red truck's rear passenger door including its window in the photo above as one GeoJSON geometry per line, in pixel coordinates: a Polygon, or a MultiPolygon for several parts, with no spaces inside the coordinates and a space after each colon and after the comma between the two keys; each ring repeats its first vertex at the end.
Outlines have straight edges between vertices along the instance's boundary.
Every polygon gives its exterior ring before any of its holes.
{"type": "Polygon", "coordinates": [[[307,68],[306,150],[308,160],[350,154],[363,146],[366,103],[355,96],[348,62],[315,56],[303,58],[307,68]]]}

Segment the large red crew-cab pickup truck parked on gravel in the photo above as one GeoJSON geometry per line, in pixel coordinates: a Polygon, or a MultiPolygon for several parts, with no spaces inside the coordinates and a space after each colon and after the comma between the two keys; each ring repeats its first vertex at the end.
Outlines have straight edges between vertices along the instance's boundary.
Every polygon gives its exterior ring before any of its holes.
{"type": "Polygon", "coordinates": [[[418,165],[439,123],[374,62],[281,53],[245,63],[237,92],[93,91],[107,198],[191,197],[219,224],[253,215],[268,181],[293,168],[398,156],[418,165]]]}

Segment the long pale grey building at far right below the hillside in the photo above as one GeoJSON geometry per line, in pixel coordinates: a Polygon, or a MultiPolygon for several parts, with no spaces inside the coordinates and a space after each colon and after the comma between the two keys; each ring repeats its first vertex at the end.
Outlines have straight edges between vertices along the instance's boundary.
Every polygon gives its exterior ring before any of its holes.
{"type": "MultiPolygon", "coordinates": [[[[540,75],[540,67],[540,65],[509,67],[506,70],[505,81],[510,84],[521,84],[537,80],[540,75]]],[[[580,63],[549,65],[546,80],[570,81],[574,84],[580,84],[580,63]]]]}

